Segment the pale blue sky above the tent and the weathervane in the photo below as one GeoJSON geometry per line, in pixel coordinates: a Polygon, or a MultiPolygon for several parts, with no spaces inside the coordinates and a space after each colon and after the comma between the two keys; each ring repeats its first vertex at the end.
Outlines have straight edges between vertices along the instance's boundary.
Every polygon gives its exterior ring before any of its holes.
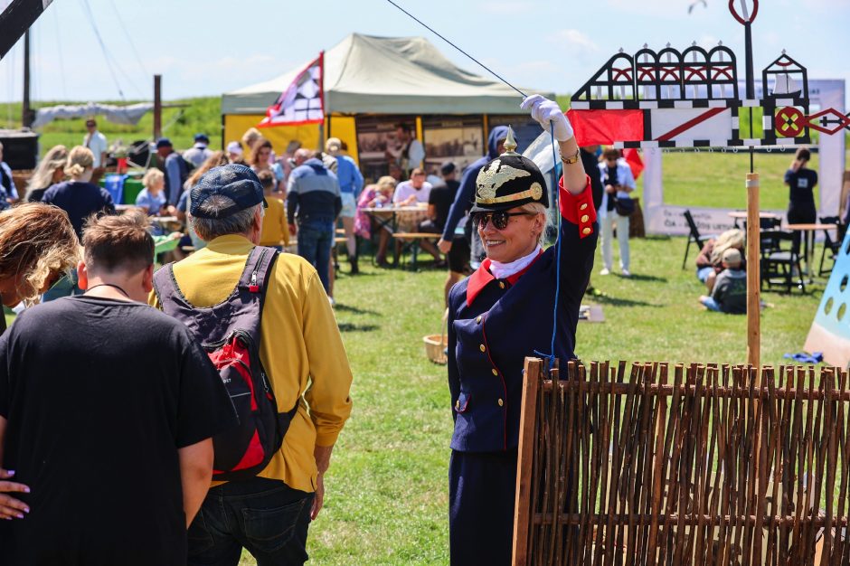
{"type": "MultiPolygon", "coordinates": [[[[505,79],[558,93],[578,89],[620,47],[635,52],[645,42],[657,50],[722,41],[738,54],[742,77],[743,28],[727,2],[706,0],[688,14],[693,1],[397,0],[505,79]]],[[[762,0],[757,75],[786,49],[810,78],[850,82],[848,22],[850,0],[762,0]]],[[[126,99],[150,99],[154,73],[163,75],[165,99],[220,95],[288,71],[352,32],[422,35],[485,73],[385,0],[54,0],[33,27],[33,98],[121,99],[118,81],[126,99]]],[[[18,42],[0,61],[0,100],[21,99],[22,58],[18,42]]]]}

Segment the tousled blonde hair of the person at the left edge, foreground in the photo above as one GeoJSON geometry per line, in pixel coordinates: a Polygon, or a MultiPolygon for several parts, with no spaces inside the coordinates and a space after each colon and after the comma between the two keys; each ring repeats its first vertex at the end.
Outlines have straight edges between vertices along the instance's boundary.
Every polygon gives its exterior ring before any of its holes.
{"type": "Polygon", "coordinates": [[[20,300],[33,304],[44,285],[80,260],[80,241],[68,214],[44,203],[0,212],[0,279],[16,279],[20,300]]]}

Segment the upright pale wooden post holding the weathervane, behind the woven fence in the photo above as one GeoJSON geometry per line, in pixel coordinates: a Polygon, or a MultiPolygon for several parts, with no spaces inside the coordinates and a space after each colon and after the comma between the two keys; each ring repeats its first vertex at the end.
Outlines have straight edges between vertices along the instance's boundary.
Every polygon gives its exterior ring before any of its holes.
{"type": "Polygon", "coordinates": [[[759,174],[747,174],[747,363],[761,364],[759,174]]]}

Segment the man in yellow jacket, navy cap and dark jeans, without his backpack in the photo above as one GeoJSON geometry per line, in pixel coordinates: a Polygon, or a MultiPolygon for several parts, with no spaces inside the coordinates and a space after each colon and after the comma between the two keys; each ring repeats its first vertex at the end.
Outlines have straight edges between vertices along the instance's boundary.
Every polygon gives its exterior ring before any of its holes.
{"type": "MultiPolygon", "coordinates": [[[[207,241],[174,266],[194,307],[222,303],[260,242],[264,199],[244,165],[224,165],[193,189],[191,222],[207,241]]],[[[214,484],[189,528],[189,564],[232,564],[242,547],[263,564],[307,561],[307,528],[322,508],[324,474],[351,413],[351,369],[325,289],[307,261],[281,254],[269,274],[260,361],[279,412],[298,403],[279,452],[256,477],[214,484]]],[[[150,302],[158,307],[152,294],[150,302]]]]}

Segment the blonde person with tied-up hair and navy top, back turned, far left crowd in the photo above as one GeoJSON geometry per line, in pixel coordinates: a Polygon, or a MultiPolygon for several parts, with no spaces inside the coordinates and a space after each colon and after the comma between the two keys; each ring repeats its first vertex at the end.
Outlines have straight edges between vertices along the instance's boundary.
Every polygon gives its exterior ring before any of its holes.
{"type": "Polygon", "coordinates": [[[97,212],[115,213],[112,195],[106,189],[91,184],[91,174],[94,172],[94,154],[88,147],[76,146],[68,155],[68,165],[65,173],[71,175],[71,181],[54,184],[42,196],[42,203],[54,204],[68,212],[71,225],[82,238],[82,225],[92,214],[97,212]]]}

